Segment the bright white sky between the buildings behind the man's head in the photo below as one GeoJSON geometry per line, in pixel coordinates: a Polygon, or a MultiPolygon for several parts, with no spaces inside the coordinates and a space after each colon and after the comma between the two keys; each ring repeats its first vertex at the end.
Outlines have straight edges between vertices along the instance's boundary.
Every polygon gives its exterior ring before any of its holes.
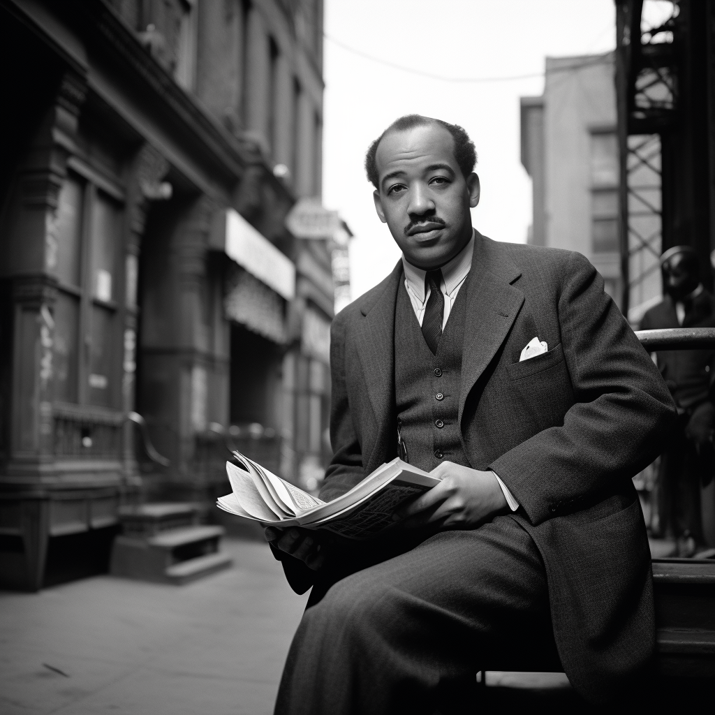
{"type": "Polygon", "coordinates": [[[543,92],[546,56],[613,49],[615,22],[613,0],[325,0],[322,194],[355,234],[353,300],[400,257],[365,178],[370,142],[403,114],[460,124],[478,154],[473,225],[495,240],[525,242],[531,179],[520,159],[519,97],[543,92]],[[533,76],[450,82],[385,63],[446,78],[533,76]]]}

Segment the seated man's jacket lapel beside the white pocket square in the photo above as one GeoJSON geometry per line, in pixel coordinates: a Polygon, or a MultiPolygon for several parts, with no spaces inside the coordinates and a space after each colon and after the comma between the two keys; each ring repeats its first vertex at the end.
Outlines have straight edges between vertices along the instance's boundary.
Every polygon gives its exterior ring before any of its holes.
{"type": "Polygon", "coordinates": [[[460,423],[467,395],[493,360],[521,310],[524,294],[511,285],[520,275],[498,243],[477,232],[468,280],[460,423]]]}

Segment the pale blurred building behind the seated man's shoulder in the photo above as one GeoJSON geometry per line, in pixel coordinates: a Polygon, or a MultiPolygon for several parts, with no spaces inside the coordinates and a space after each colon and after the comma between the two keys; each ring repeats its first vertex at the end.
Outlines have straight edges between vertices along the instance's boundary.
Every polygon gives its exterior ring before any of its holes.
{"type": "Polygon", "coordinates": [[[521,98],[521,162],[532,179],[528,242],[582,253],[621,300],[613,53],[548,57],[541,97],[521,98]]]}

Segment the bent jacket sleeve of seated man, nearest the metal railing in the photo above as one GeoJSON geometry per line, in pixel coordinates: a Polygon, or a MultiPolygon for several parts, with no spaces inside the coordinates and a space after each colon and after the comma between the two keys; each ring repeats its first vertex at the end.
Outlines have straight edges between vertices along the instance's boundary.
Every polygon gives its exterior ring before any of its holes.
{"type": "Polygon", "coordinates": [[[575,403],[489,465],[535,526],[618,488],[660,453],[675,405],[603,279],[580,254],[563,266],[561,343],[575,403]]]}

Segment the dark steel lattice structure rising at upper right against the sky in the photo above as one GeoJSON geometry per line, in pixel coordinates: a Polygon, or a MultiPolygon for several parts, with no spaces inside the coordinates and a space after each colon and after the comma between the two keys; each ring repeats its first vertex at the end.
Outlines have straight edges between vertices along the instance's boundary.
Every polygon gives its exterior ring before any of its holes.
{"type": "Polygon", "coordinates": [[[621,306],[631,322],[661,298],[663,137],[676,122],[679,10],[676,0],[616,0],[621,306]]]}

